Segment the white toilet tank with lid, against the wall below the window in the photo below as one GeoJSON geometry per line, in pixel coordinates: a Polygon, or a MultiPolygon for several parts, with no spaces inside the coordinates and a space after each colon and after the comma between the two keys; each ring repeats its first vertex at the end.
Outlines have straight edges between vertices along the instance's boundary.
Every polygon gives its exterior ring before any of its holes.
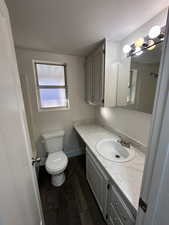
{"type": "Polygon", "coordinates": [[[42,135],[42,140],[45,144],[48,153],[58,152],[63,150],[63,130],[55,130],[42,135]]]}

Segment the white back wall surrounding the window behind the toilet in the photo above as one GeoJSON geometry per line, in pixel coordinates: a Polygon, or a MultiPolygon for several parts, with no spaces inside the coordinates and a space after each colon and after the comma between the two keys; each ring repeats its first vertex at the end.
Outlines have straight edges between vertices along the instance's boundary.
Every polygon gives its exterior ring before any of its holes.
{"type": "Polygon", "coordinates": [[[95,117],[95,108],[87,105],[84,101],[84,58],[25,49],[16,49],[16,54],[34,151],[36,152],[37,146],[42,149],[39,145],[40,134],[53,129],[64,129],[66,132],[64,150],[69,155],[78,154],[80,145],[72,130],[73,122],[95,117]],[[67,64],[69,110],[38,112],[33,59],[67,64]]]}

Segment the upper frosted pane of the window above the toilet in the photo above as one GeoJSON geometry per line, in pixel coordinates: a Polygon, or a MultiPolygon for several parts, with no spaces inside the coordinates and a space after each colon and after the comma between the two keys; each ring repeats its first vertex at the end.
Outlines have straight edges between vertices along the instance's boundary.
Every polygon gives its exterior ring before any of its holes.
{"type": "Polygon", "coordinates": [[[37,63],[36,70],[39,85],[65,85],[64,66],[37,63]]]}

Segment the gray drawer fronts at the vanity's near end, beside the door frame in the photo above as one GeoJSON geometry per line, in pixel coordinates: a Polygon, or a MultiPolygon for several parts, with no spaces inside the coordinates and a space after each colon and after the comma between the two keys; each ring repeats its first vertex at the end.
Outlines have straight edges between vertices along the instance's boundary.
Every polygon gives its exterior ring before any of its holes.
{"type": "Polygon", "coordinates": [[[124,225],[135,224],[135,218],[127,207],[126,203],[121,198],[120,194],[117,192],[116,188],[111,185],[110,188],[110,201],[113,205],[115,211],[120,217],[120,220],[124,225]]]}

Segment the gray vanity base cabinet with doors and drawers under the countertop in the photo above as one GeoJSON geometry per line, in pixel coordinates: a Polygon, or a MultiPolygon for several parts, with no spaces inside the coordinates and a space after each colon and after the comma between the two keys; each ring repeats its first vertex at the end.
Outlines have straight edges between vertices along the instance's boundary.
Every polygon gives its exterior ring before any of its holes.
{"type": "Polygon", "coordinates": [[[114,181],[86,149],[86,176],[99,208],[108,225],[134,225],[135,209],[124,199],[114,181]]]}

